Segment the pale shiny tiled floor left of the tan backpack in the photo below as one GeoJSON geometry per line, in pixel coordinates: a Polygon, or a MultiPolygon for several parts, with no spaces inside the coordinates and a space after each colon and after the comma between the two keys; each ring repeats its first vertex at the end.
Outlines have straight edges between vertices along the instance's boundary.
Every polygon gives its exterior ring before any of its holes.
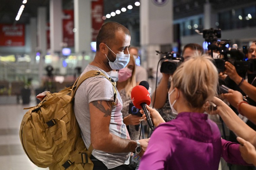
{"type": "Polygon", "coordinates": [[[0,170],[47,170],[34,165],[23,151],[19,130],[23,108],[34,106],[35,101],[28,105],[0,103],[0,170]]]}

